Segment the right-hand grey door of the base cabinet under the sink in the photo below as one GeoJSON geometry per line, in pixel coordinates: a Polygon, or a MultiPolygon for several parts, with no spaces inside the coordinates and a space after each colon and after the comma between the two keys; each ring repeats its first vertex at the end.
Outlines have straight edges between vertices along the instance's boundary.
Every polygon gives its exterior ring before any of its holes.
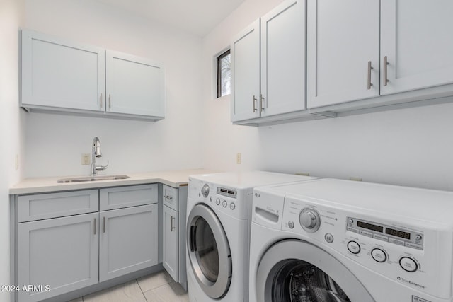
{"type": "Polygon", "coordinates": [[[157,204],[99,214],[99,281],[157,264],[157,204]]]}

